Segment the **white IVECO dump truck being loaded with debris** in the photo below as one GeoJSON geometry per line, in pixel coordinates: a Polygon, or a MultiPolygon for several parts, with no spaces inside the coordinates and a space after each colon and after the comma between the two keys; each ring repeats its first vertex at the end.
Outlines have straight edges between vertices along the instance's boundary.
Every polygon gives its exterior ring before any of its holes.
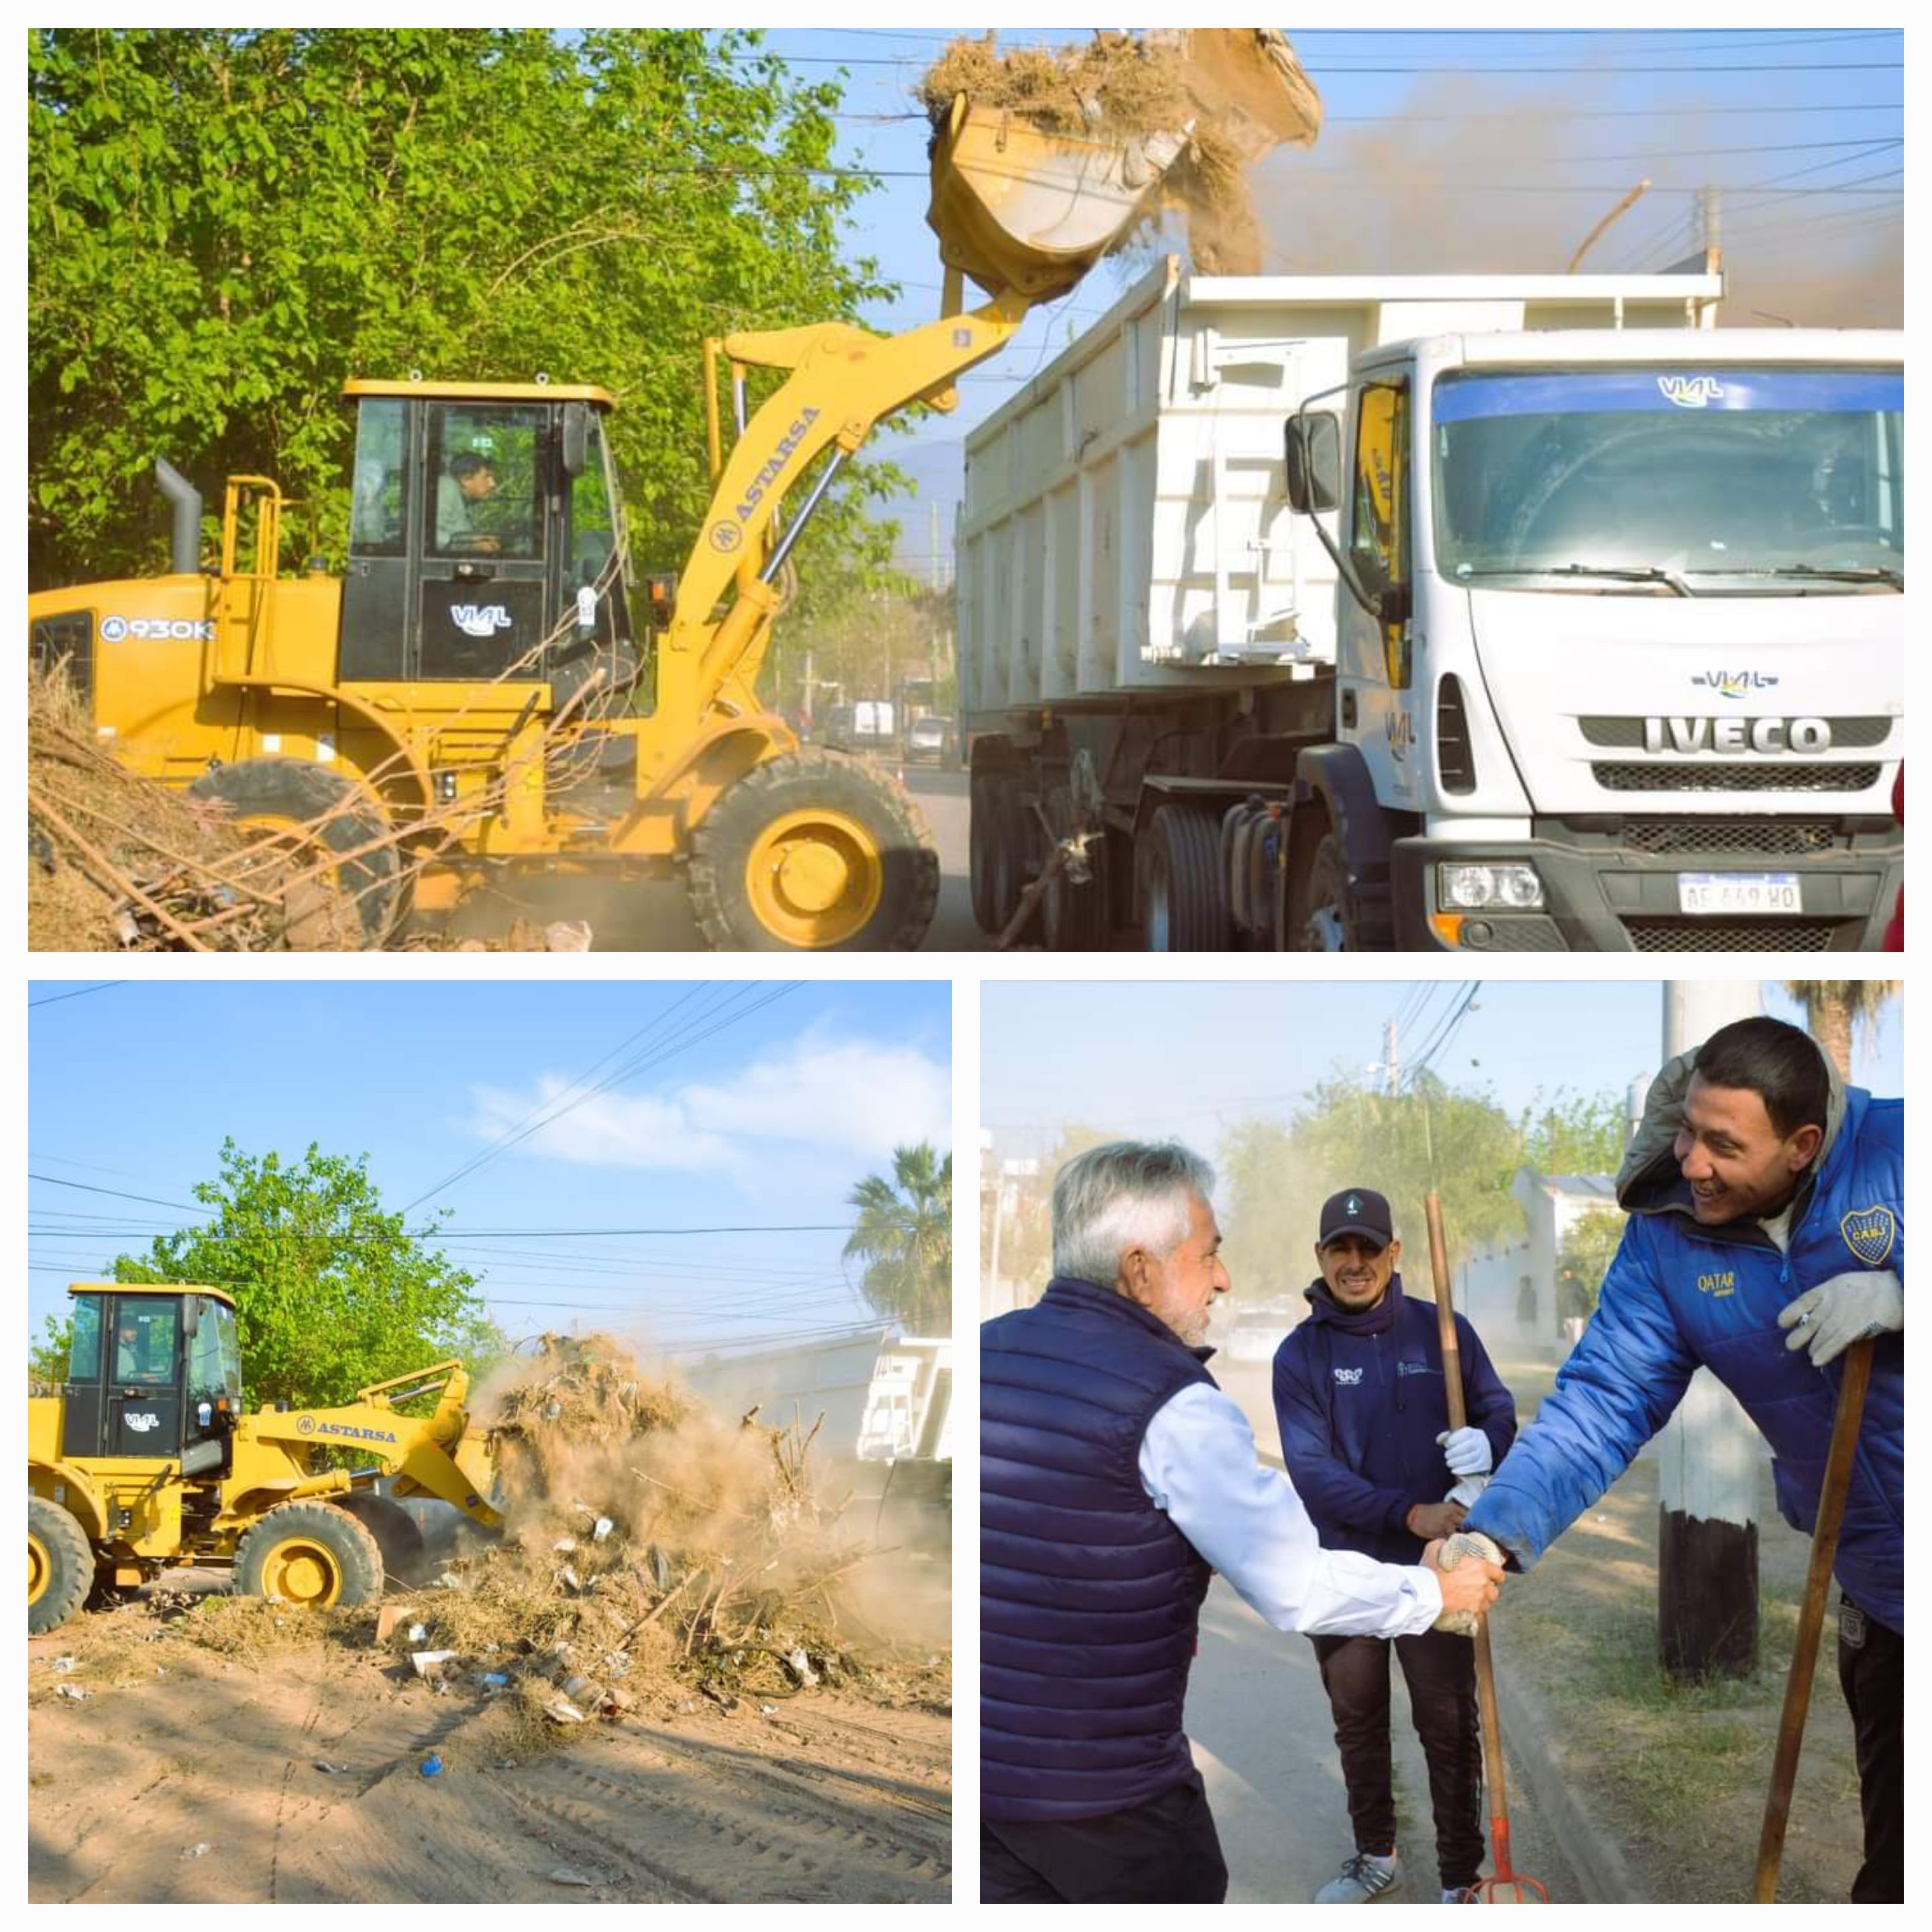
{"type": "Polygon", "coordinates": [[[1718,274],[1159,265],[966,439],[981,927],[1876,947],[1903,336],[1718,274]]]}

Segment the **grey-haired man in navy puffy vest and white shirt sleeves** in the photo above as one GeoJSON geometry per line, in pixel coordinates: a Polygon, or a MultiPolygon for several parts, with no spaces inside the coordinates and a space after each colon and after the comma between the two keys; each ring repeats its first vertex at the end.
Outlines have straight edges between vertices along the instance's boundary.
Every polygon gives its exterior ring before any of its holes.
{"type": "Polygon", "coordinates": [[[1202,1347],[1229,1287],[1213,1171],[1115,1142],[1053,1182],[1053,1281],[981,1327],[980,1895],[1215,1905],[1180,1727],[1213,1571],[1275,1629],[1410,1636],[1501,1571],[1323,1549],[1202,1347]]]}

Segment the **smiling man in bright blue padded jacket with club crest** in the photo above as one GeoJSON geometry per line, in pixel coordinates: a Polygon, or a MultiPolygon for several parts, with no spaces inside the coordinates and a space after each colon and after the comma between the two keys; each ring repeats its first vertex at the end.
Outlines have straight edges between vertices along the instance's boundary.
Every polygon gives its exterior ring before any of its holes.
{"type": "Polygon", "coordinates": [[[1774,1453],[1810,1534],[1839,1354],[1872,1383],[1833,1565],[1837,1677],[1864,1812],[1855,1903],[1905,1897],[1905,1103],[1847,1088],[1781,1020],[1737,1020],[1652,1082],[1617,1175],[1631,1215],[1598,1310],[1468,1513],[1515,1569],[1629,1468],[1708,1366],[1774,1453]]]}

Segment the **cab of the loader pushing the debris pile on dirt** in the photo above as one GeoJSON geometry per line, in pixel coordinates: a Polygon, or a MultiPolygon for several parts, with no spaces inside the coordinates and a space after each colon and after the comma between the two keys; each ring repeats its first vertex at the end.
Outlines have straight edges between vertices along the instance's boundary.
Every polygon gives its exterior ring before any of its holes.
{"type": "Polygon", "coordinates": [[[81,1285],[62,1389],[64,1457],[222,1468],[242,1414],[242,1341],[220,1289],[81,1285]]]}

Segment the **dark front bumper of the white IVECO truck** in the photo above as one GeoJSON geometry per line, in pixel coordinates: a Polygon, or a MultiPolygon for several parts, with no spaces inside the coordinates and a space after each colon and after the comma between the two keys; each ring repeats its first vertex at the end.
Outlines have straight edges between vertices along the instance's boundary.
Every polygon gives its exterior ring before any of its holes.
{"type": "Polygon", "coordinates": [[[1526,840],[1399,838],[1395,943],[1405,952],[1876,952],[1905,883],[1903,833],[1889,819],[1756,819],[1663,827],[1644,850],[1617,829],[1534,821],[1526,840]],[[1781,848],[1783,844],[1783,848],[1781,848]],[[1534,866],[1540,912],[1447,912],[1443,864],[1534,866]],[[1687,914],[1679,873],[1795,873],[1795,914],[1687,914]]]}

